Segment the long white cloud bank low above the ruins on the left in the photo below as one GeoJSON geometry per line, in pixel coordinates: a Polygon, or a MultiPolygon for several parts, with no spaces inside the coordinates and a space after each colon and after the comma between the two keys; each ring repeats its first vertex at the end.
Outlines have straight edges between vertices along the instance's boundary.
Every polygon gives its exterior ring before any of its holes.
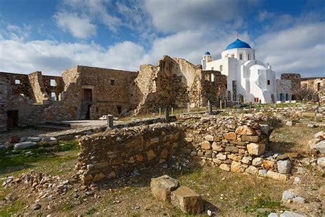
{"type": "MultiPolygon", "coordinates": [[[[1,38],[1,37],[0,37],[1,38]]],[[[0,71],[60,75],[75,65],[139,70],[144,50],[130,41],[101,47],[95,43],[58,43],[56,41],[0,41],[0,71]],[[17,61],[19,60],[19,61],[17,61]]]]}

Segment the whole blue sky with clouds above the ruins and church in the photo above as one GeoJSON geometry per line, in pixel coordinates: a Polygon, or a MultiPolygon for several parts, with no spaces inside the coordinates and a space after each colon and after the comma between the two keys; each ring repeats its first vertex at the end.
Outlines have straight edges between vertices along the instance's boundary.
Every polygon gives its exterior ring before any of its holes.
{"type": "Polygon", "coordinates": [[[237,33],[277,77],[325,76],[324,0],[0,0],[0,71],[138,71],[163,55],[197,65],[237,33]]]}

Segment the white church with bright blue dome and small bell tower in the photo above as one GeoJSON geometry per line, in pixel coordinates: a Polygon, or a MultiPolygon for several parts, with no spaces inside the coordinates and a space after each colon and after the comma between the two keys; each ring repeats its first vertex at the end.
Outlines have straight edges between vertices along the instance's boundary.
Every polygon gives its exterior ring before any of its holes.
{"type": "Polygon", "coordinates": [[[255,50],[238,38],[213,60],[210,52],[202,58],[203,70],[227,76],[227,98],[234,102],[276,102],[276,73],[267,63],[256,60],[255,50]]]}

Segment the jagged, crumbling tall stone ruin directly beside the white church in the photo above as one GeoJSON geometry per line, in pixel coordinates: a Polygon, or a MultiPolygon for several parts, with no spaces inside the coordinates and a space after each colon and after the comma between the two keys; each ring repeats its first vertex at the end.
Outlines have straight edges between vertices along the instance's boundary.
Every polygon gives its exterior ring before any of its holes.
{"type": "Polygon", "coordinates": [[[217,71],[202,71],[182,58],[163,56],[156,66],[142,65],[135,80],[141,99],[135,114],[157,112],[165,106],[173,108],[200,107],[207,101],[219,101],[226,95],[226,76],[217,71]],[[215,76],[215,82],[210,78],[215,76]]]}

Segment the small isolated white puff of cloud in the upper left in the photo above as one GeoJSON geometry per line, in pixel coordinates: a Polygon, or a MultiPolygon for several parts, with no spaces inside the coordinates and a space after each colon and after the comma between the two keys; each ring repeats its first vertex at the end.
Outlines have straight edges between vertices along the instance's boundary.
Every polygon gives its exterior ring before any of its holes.
{"type": "Polygon", "coordinates": [[[77,14],[58,12],[54,16],[58,27],[68,30],[76,38],[88,38],[96,34],[96,26],[88,17],[80,17],[77,14]]]}

